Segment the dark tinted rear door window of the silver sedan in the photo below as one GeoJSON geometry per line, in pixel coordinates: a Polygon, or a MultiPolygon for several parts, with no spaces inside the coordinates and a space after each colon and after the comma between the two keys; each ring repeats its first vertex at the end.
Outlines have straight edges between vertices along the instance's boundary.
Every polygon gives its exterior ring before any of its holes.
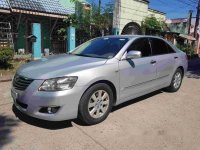
{"type": "Polygon", "coordinates": [[[167,44],[160,39],[150,39],[153,55],[163,55],[168,53],[167,44]]]}

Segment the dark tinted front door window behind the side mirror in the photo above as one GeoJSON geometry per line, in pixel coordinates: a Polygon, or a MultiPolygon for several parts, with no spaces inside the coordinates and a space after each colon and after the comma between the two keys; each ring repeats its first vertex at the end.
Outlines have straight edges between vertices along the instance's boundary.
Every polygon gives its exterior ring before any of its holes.
{"type": "Polygon", "coordinates": [[[141,51],[142,57],[151,56],[151,47],[147,38],[140,38],[134,41],[127,51],[131,50],[141,51]]]}

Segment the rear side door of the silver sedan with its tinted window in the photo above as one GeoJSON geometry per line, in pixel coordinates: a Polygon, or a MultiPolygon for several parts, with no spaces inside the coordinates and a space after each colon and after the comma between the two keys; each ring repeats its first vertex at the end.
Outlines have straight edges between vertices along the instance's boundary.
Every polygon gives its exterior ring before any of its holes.
{"type": "Polygon", "coordinates": [[[157,85],[169,83],[170,75],[175,66],[175,51],[164,40],[149,38],[152,54],[156,57],[157,64],[157,85]]]}

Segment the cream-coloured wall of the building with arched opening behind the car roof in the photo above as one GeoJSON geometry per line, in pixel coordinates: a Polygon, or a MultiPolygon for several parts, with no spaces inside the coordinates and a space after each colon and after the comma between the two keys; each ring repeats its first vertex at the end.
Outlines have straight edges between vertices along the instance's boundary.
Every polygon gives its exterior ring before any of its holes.
{"type": "Polygon", "coordinates": [[[113,26],[114,28],[119,28],[120,34],[130,22],[141,26],[142,21],[148,15],[154,15],[159,20],[165,20],[164,13],[149,11],[149,3],[143,0],[115,0],[115,7],[113,26]],[[118,13],[120,15],[117,15],[118,13]]]}

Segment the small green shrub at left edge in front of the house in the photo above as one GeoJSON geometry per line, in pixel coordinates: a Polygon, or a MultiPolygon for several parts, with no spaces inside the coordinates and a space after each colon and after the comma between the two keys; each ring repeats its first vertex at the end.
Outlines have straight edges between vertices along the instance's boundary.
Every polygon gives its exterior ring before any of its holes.
{"type": "Polygon", "coordinates": [[[0,68],[9,68],[11,65],[9,61],[13,58],[13,49],[3,48],[0,49],[0,68]]]}

